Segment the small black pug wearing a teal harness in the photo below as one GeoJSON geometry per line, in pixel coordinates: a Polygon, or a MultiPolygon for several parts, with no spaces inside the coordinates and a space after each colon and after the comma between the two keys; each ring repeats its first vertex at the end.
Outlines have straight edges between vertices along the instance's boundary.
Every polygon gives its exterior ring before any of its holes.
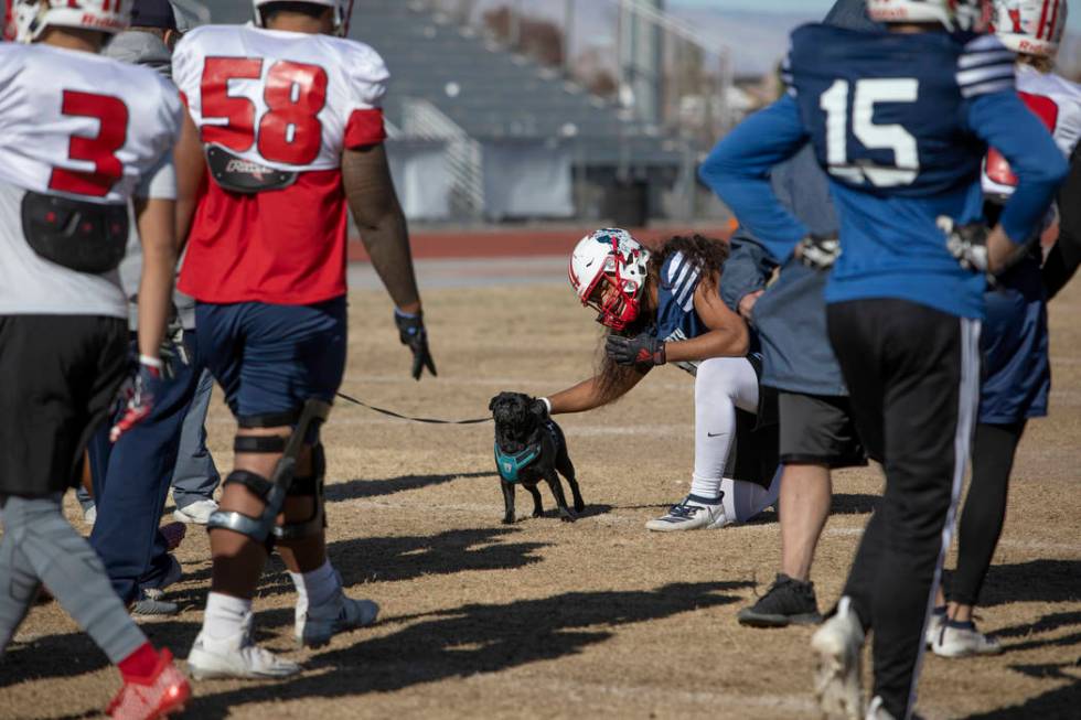
{"type": "Polygon", "coordinates": [[[544,507],[537,483],[548,483],[559,506],[559,518],[574,523],[586,504],[575,480],[575,466],[567,453],[563,430],[548,417],[544,402],[522,393],[500,393],[489,402],[495,419],[495,465],[500,473],[505,513],[503,523],[514,522],[514,486],[521,483],[533,495],[533,517],[540,517],[544,507]],[[570,483],[575,509],[567,507],[563,484],[556,471],[570,483]]]}

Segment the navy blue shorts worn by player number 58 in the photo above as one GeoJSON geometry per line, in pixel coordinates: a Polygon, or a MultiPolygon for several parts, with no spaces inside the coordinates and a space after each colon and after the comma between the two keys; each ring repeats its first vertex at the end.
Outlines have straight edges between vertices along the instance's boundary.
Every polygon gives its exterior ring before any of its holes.
{"type": "MultiPolygon", "coordinates": [[[[200,354],[237,419],[293,416],[332,402],[345,373],[345,298],[314,305],[195,307],[200,354]]],[[[271,425],[278,425],[272,422],[271,425]]]]}

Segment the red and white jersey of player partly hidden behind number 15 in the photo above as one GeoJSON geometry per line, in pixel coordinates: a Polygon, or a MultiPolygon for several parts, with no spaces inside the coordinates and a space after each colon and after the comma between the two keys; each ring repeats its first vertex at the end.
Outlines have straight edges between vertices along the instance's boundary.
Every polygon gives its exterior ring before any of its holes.
{"type": "MultiPolygon", "coordinates": [[[[1051,131],[1067,158],[1081,140],[1081,85],[1053,73],[1040,73],[1028,65],[1017,66],[1017,92],[1028,108],[1051,131]]],[[[1017,178],[1009,163],[992,150],[984,164],[983,190],[987,195],[1010,195],[1017,178]]]]}

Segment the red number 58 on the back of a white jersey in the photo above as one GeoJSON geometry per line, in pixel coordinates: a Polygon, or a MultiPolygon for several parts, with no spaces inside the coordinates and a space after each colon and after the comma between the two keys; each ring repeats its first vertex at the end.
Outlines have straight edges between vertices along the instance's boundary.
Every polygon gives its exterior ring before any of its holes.
{"type": "Polygon", "coordinates": [[[256,123],[255,103],[229,95],[229,80],[258,80],[263,58],[207,57],[201,84],[203,120],[222,118],[225,125],[203,123],[203,142],[236,152],[256,144],[271,162],[306,165],[319,157],[323,128],[319,112],[327,105],[327,71],[318,65],[278,61],[270,66],[263,99],[267,111],[256,123]],[[256,133],[258,128],[258,133],[256,133]]]}

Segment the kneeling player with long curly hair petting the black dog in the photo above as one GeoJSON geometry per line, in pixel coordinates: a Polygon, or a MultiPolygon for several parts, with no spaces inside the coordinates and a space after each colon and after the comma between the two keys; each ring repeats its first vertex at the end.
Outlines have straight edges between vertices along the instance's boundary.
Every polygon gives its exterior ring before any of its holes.
{"type": "Polygon", "coordinates": [[[542,398],[549,412],[613,402],[665,363],[695,378],[691,493],[647,522],[650,530],[717,529],[777,502],[775,423],[753,431],[761,356],[750,352],[747,324],[720,300],[727,256],[723,243],[700,236],[674,237],[650,251],[627,230],[606,228],[582,238],[570,257],[575,293],[610,333],[600,373],[542,398]],[[739,416],[747,421],[737,433],[739,416]],[[737,434],[740,465],[731,465],[737,434]]]}

